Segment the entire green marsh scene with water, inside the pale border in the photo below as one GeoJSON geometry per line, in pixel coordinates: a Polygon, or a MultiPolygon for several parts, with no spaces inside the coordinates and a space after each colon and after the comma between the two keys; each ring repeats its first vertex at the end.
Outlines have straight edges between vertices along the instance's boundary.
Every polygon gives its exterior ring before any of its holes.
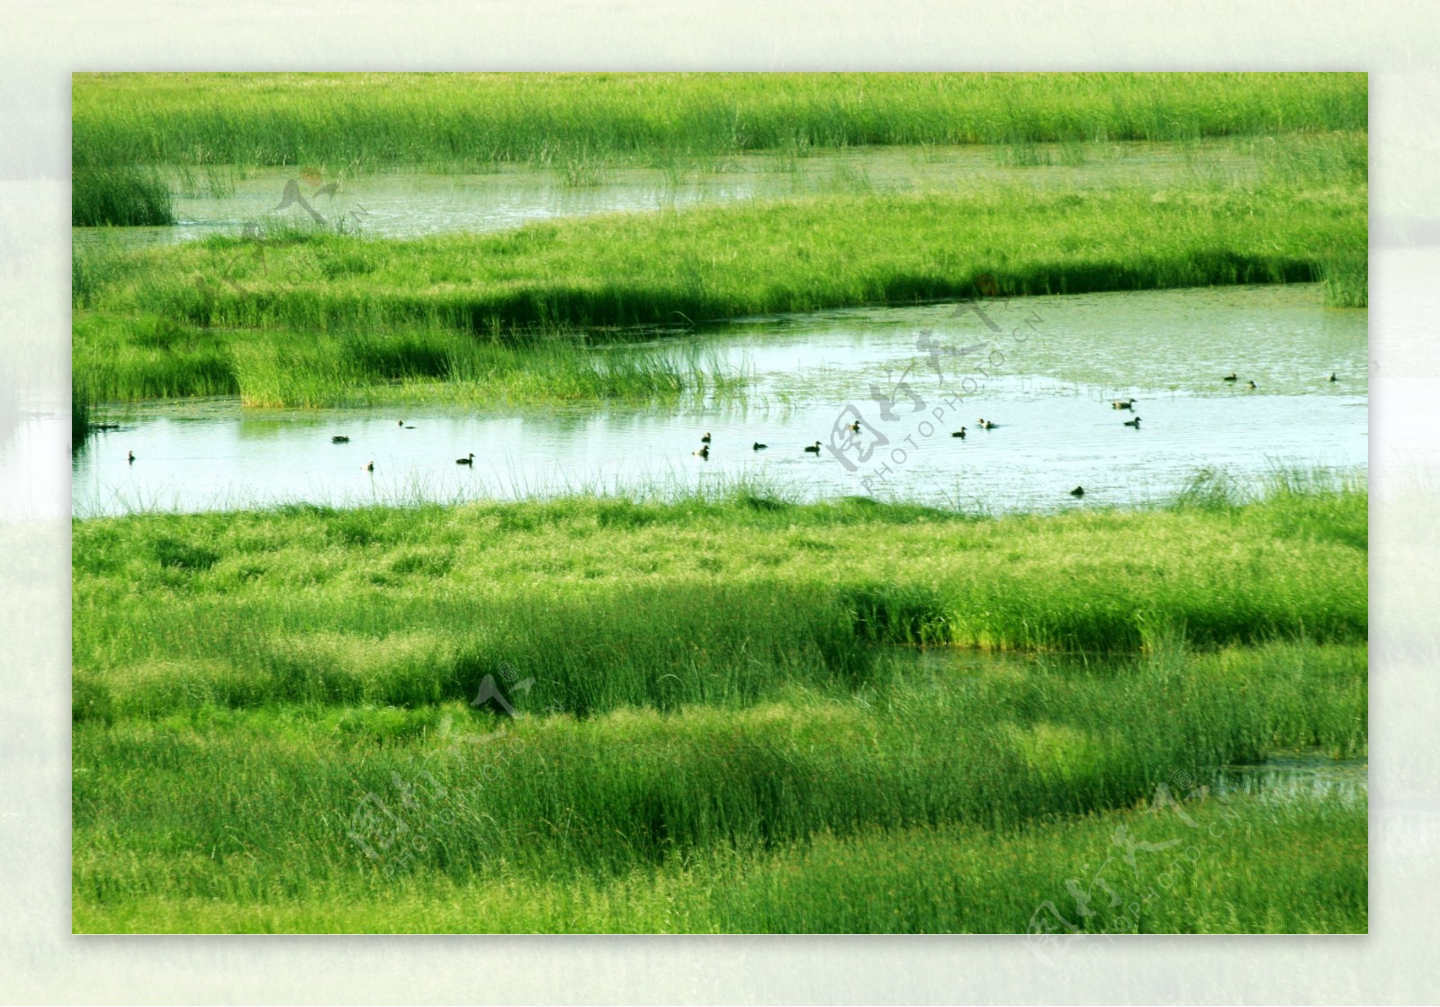
{"type": "Polygon", "coordinates": [[[1368,929],[1364,75],[73,95],[78,932],[1368,929]]]}

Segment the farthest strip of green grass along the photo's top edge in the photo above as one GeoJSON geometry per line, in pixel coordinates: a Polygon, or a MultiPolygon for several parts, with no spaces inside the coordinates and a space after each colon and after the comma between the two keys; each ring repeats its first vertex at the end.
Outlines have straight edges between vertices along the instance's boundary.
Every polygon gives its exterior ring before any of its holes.
{"type": "Polygon", "coordinates": [[[1364,73],[76,73],[72,160],[557,167],[1365,130],[1364,73]]]}

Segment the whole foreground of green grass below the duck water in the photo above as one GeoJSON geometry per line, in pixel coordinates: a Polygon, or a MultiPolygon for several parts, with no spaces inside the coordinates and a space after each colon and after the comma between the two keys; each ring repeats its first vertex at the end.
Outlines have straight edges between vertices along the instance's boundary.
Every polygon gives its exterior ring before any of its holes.
{"type": "MultiPolygon", "coordinates": [[[[1273,748],[1364,755],[1365,511],[1292,481],[998,520],[733,496],[78,522],[76,926],[387,929],[449,893],[413,925],[1024,929],[1129,821],[1077,815],[1273,748]],[[487,676],[524,716],[471,704],[487,676]],[[945,887],[901,898],[937,859],[945,887]]],[[[1243,814],[1244,846],[1205,847],[1244,863],[1221,895],[1125,926],[1364,926],[1362,814],[1243,814]],[[1246,853],[1261,833],[1284,846],[1246,853]]]]}

